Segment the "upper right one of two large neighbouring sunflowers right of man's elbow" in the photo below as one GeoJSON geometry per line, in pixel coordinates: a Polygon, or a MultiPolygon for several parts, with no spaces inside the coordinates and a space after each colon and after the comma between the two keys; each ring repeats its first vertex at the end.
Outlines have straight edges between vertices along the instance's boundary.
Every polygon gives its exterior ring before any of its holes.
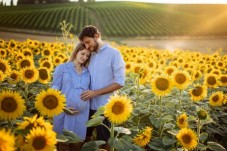
{"type": "Polygon", "coordinates": [[[190,84],[191,77],[185,71],[175,71],[172,74],[174,85],[181,90],[184,90],[190,84]]]}

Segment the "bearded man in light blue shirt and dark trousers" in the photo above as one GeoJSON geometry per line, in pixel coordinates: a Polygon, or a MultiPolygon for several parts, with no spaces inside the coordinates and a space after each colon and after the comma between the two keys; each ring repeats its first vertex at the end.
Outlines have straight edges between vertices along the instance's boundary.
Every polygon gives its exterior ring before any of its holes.
{"type": "MultiPolygon", "coordinates": [[[[92,52],[88,70],[91,75],[91,90],[82,93],[83,100],[91,99],[92,116],[100,106],[104,106],[115,90],[124,86],[125,62],[117,49],[110,47],[101,40],[101,33],[95,26],[86,26],[79,34],[80,41],[92,52]]],[[[110,122],[105,119],[108,127],[110,122]]],[[[108,141],[108,129],[100,125],[96,127],[97,140],[108,141]]],[[[87,136],[92,136],[88,128],[87,136]]]]}

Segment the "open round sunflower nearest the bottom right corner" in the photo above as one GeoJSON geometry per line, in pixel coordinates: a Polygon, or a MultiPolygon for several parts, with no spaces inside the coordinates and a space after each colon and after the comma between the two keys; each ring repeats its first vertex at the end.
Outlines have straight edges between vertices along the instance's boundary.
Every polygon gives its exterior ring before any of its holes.
{"type": "Polygon", "coordinates": [[[182,128],[178,134],[176,135],[178,141],[180,142],[180,144],[188,149],[188,150],[192,150],[194,149],[198,142],[198,138],[197,135],[195,134],[195,132],[189,128],[182,128]]]}

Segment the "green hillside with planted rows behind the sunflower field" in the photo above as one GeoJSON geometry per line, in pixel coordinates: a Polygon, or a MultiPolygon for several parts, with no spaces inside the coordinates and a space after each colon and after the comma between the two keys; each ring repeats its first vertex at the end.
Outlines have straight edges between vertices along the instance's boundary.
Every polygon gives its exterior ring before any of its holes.
{"type": "Polygon", "coordinates": [[[1,6],[0,28],[60,32],[60,22],[78,34],[93,24],[109,37],[227,36],[227,5],[95,2],[1,6]]]}

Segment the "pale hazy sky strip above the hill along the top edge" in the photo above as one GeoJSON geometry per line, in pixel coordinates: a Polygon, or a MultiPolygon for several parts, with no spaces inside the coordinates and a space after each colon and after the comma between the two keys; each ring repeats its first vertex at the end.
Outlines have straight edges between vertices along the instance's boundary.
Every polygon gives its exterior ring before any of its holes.
{"type": "MultiPolygon", "coordinates": [[[[6,5],[10,4],[11,0],[0,0],[6,5]]],[[[77,0],[72,0],[77,1],[77,0]]],[[[85,0],[86,1],[86,0],[85,0]]],[[[96,0],[96,1],[108,1],[108,0],[96,0]]],[[[122,1],[122,0],[112,0],[112,1],[122,1]]],[[[149,2],[149,3],[176,3],[176,4],[227,4],[227,0],[124,0],[124,1],[134,1],[134,2],[149,2]]],[[[13,0],[14,4],[17,0],[13,0]]]]}

